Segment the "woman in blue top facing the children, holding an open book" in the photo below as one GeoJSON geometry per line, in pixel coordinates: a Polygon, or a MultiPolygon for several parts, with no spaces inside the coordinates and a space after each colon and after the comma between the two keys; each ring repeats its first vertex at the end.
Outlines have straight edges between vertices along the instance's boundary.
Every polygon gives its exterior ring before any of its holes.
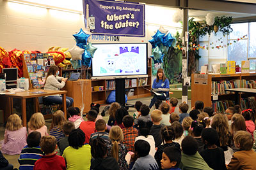
{"type": "Polygon", "coordinates": [[[152,91],[162,94],[161,96],[157,96],[154,94],[154,97],[151,99],[149,108],[152,108],[157,99],[165,100],[169,96],[169,80],[164,76],[163,69],[158,69],[156,74],[156,79],[152,85],[152,91]]]}

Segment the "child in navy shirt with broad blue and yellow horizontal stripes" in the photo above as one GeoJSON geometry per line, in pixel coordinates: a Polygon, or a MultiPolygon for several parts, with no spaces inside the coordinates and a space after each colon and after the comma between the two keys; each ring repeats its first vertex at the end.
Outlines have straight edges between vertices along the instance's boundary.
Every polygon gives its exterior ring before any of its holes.
{"type": "Polygon", "coordinates": [[[36,160],[41,158],[43,152],[39,146],[41,139],[40,132],[34,131],[28,135],[27,143],[18,159],[20,163],[19,170],[33,170],[36,160]]]}

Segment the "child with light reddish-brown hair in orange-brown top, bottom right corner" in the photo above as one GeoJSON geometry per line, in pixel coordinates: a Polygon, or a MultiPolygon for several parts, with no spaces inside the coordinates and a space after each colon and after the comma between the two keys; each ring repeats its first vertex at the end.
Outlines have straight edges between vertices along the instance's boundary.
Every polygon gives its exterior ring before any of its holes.
{"type": "Polygon", "coordinates": [[[240,150],[232,155],[227,169],[255,169],[256,153],[252,150],[252,135],[246,131],[237,131],[234,144],[240,150]]]}

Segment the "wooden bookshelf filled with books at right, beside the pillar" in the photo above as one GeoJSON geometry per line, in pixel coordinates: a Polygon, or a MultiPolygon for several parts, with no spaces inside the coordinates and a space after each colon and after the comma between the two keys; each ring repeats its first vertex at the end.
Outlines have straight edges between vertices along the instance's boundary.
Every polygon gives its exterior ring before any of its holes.
{"type": "MultiPolygon", "coordinates": [[[[225,92],[224,89],[255,89],[255,80],[256,73],[192,74],[191,107],[195,106],[196,101],[203,101],[205,107],[213,107],[216,112],[223,113],[225,108],[233,106],[236,100],[234,92],[225,92]]],[[[250,97],[250,94],[241,94],[239,101],[246,100],[247,97],[250,97]]]]}

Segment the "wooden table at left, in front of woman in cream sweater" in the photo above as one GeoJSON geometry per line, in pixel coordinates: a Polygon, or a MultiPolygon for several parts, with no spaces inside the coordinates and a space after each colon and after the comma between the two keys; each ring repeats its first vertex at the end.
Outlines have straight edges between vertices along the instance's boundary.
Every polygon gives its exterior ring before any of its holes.
{"type": "MultiPolygon", "coordinates": [[[[65,118],[67,118],[67,104],[66,104],[67,91],[66,90],[33,89],[33,90],[25,91],[25,92],[17,92],[16,94],[6,94],[5,96],[10,97],[11,98],[10,101],[12,101],[12,98],[21,99],[22,122],[23,122],[23,126],[27,126],[26,99],[28,99],[28,98],[34,98],[35,99],[35,110],[37,112],[37,111],[39,111],[38,105],[36,104],[36,103],[38,103],[38,97],[51,96],[51,95],[54,95],[54,94],[62,94],[63,95],[63,98],[62,98],[63,112],[64,112],[65,118]],[[44,92],[44,93],[41,93],[41,94],[31,93],[31,92],[38,92],[38,91],[41,91],[41,92],[44,92]]],[[[12,105],[13,104],[11,103],[11,106],[12,105]]]]}

